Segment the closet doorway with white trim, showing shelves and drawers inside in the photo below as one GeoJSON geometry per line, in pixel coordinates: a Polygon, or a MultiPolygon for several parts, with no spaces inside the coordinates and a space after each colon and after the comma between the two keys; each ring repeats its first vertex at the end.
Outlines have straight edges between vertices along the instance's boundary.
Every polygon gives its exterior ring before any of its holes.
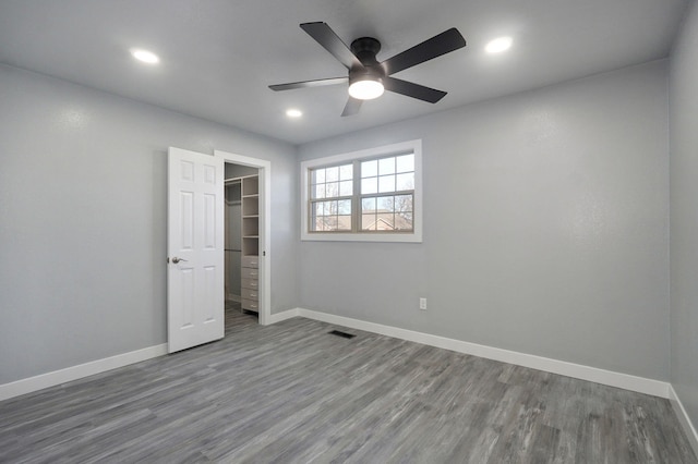
{"type": "Polygon", "coordinates": [[[269,161],[215,151],[224,159],[226,308],[269,322],[269,161]]]}

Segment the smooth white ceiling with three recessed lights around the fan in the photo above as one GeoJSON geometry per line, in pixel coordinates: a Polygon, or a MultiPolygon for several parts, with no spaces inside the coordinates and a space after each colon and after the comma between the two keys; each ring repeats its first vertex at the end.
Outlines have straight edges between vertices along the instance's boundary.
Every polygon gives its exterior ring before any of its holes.
{"type": "Polygon", "coordinates": [[[669,54],[689,0],[0,0],[0,62],[301,144],[669,54]],[[436,105],[386,93],[340,118],[346,75],[300,27],[324,21],[389,58],[449,27],[468,46],[396,74],[448,91],[436,105]],[[513,48],[483,51],[501,35],[513,48]],[[147,66],[129,54],[160,56],[147,66]],[[290,120],[287,108],[304,115],[290,120]]]}

